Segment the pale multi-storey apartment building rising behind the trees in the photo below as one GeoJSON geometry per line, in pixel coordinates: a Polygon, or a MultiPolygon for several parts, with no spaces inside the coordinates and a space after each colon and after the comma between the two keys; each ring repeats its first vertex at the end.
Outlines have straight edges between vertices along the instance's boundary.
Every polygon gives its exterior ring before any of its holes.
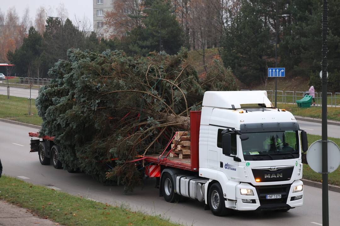
{"type": "Polygon", "coordinates": [[[93,30],[98,37],[108,38],[113,30],[104,25],[104,12],[112,10],[112,0],[93,0],[93,30]]]}

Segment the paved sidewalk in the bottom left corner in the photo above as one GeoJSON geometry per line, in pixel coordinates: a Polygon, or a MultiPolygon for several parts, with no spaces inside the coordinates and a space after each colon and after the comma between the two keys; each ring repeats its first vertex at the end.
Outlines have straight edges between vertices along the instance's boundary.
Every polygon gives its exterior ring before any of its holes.
{"type": "Polygon", "coordinates": [[[47,219],[34,216],[24,208],[0,200],[0,226],[54,226],[60,225],[47,219]]]}

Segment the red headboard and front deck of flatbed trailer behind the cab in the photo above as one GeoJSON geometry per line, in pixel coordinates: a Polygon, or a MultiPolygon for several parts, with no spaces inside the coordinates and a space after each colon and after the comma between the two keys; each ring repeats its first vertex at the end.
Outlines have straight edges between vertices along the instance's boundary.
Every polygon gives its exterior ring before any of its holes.
{"type": "Polygon", "coordinates": [[[178,159],[159,155],[148,155],[145,161],[163,166],[198,171],[199,151],[198,142],[200,137],[201,111],[190,111],[190,159],[178,159]]]}

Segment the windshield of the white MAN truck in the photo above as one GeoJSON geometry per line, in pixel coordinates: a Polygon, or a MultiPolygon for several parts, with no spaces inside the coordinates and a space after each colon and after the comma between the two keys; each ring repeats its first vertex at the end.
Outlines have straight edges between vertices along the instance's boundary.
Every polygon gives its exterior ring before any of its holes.
{"type": "MultiPolygon", "coordinates": [[[[272,156],[299,154],[299,133],[297,131],[246,133],[248,140],[242,141],[243,156],[272,156]]],[[[251,160],[253,158],[246,158],[251,160]]],[[[277,159],[277,158],[275,158],[277,159]]]]}

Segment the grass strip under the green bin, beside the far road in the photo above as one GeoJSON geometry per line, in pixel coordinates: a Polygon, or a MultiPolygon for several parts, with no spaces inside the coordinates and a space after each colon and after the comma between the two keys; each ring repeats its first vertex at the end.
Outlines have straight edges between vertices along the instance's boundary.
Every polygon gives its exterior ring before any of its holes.
{"type": "MultiPolygon", "coordinates": [[[[279,108],[284,108],[287,111],[290,111],[293,115],[296,116],[321,119],[321,107],[313,106],[308,108],[301,108],[297,107],[296,104],[277,104],[277,106],[279,108]]],[[[340,121],[340,107],[327,107],[327,119],[340,121]]]]}

